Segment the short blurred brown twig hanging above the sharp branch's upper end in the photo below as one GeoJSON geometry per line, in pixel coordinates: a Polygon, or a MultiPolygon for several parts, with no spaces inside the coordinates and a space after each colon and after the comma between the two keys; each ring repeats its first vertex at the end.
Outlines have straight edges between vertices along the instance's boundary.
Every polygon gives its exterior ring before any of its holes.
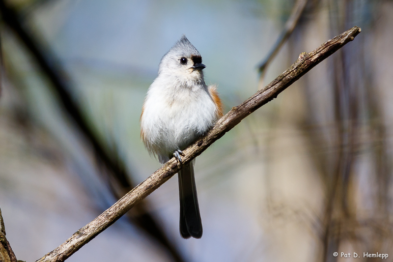
{"type": "MultiPolygon", "coordinates": [[[[263,79],[265,73],[266,73],[266,68],[270,64],[270,62],[273,60],[273,58],[276,57],[276,55],[279,53],[282,45],[285,43],[285,41],[289,38],[289,36],[292,34],[293,30],[295,29],[296,25],[298,24],[300,17],[306,8],[308,0],[297,0],[295,2],[295,5],[292,8],[291,15],[289,16],[288,20],[285,23],[285,27],[283,31],[281,32],[279,38],[277,39],[275,45],[273,48],[270,50],[268,56],[258,65],[258,71],[260,74],[260,79],[263,79]]],[[[259,88],[260,89],[260,88],[259,88]]]]}

